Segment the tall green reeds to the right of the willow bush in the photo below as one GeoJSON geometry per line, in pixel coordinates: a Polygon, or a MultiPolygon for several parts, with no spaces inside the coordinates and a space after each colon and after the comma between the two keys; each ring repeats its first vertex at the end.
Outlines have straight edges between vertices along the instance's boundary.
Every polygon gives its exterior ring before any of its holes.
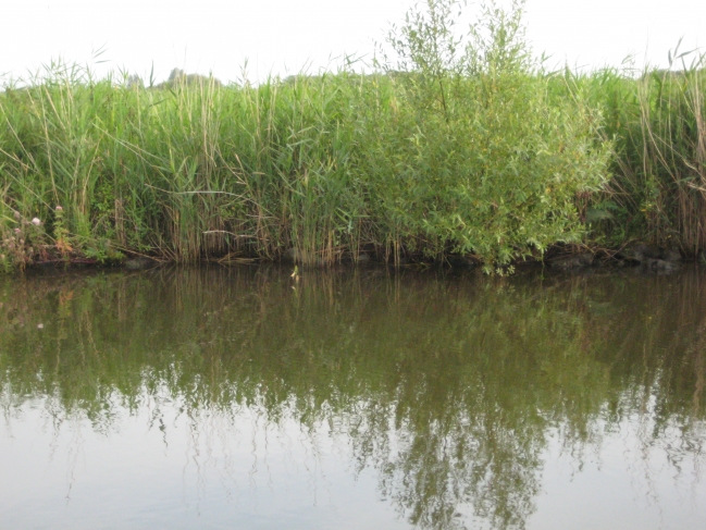
{"type": "Polygon", "coordinates": [[[688,256],[706,248],[706,56],[678,49],[669,70],[567,72],[554,86],[559,97],[585,95],[615,140],[614,177],[592,205],[594,236],[612,246],[640,238],[688,256]]]}

